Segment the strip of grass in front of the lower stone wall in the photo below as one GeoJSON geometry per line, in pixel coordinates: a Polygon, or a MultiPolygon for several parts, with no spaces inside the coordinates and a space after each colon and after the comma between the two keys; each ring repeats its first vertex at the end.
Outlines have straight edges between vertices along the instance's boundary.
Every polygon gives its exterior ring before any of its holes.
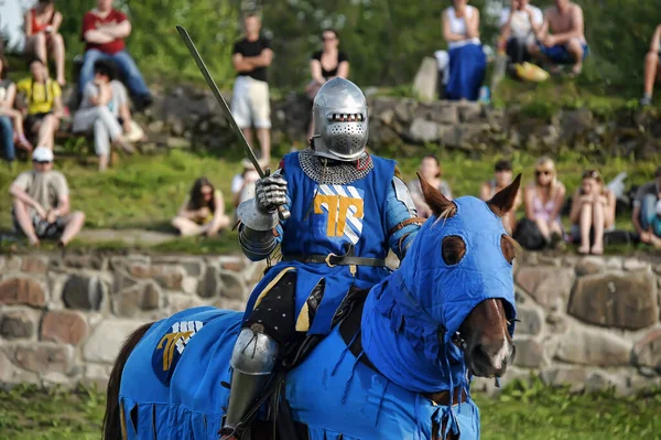
{"type": "MultiPolygon", "coordinates": [[[[475,396],[484,440],[625,440],[661,436],[661,391],[616,397],[613,393],[571,395],[539,380],[516,382],[497,398],[475,396]]],[[[78,388],[0,391],[0,438],[86,440],[100,437],[101,393],[78,388]]]]}

